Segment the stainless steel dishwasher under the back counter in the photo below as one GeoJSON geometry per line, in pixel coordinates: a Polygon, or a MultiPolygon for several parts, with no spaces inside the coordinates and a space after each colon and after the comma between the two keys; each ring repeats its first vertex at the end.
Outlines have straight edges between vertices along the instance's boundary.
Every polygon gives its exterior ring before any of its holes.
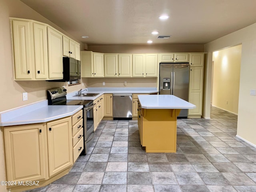
{"type": "Polygon", "coordinates": [[[132,119],[132,94],[113,94],[113,118],[132,119]]]}

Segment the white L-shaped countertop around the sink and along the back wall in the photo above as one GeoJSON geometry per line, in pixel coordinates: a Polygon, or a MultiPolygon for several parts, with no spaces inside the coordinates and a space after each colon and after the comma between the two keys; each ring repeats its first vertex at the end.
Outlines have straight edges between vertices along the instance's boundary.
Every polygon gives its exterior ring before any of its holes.
{"type": "Polygon", "coordinates": [[[140,94],[140,93],[158,93],[156,88],[151,87],[127,87],[127,88],[115,88],[115,87],[99,87],[99,88],[86,88],[82,90],[82,93],[98,93],[98,95],[94,97],[74,97],[77,94],[77,91],[71,92],[67,94],[68,100],[95,100],[102,94],[113,94],[113,93],[133,93],[133,94],[140,94]]]}

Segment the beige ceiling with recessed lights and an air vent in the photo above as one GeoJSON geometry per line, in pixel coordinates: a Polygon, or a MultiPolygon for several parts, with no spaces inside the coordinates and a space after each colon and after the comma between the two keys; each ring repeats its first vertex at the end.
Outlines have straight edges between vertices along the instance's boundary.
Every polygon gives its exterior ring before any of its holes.
{"type": "Polygon", "coordinates": [[[88,45],[205,44],[256,22],[256,0],[21,1],[88,45]]]}

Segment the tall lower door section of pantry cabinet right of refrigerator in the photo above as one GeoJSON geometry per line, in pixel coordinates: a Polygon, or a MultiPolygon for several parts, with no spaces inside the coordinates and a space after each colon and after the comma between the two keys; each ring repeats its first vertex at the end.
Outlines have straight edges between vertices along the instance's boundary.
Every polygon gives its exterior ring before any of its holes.
{"type": "Polygon", "coordinates": [[[188,110],[188,118],[201,118],[203,96],[203,67],[190,67],[188,102],[196,105],[196,108],[188,110]]]}

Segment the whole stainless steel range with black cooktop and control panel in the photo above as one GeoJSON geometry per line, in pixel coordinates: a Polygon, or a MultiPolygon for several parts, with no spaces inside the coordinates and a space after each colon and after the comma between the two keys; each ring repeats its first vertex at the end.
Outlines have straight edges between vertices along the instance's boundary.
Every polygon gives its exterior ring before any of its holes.
{"type": "Polygon", "coordinates": [[[86,154],[94,141],[93,100],[67,100],[64,87],[47,90],[48,105],[82,105],[84,114],[84,151],[86,154]]]}

